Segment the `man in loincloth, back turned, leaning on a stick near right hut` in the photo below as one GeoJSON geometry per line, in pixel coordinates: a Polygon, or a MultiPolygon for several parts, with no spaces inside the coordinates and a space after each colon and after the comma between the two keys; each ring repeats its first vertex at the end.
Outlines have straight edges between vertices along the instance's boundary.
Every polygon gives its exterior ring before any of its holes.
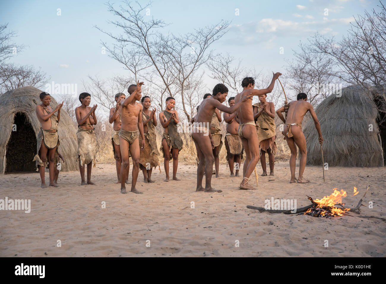
{"type": "Polygon", "coordinates": [[[301,122],[307,112],[310,112],[315,123],[315,128],[319,135],[319,143],[323,144],[322,131],[320,130],[320,123],[313,106],[307,101],[305,93],[298,94],[297,101],[291,101],[288,104],[288,113],[286,119],[283,117],[284,106],[277,110],[279,118],[285,123],[283,135],[287,141],[288,147],[291,150],[291,158],[289,159],[289,167],[291,168],[291,181],[289,183],[309,183],[310,181],[303,178],[303,172],[307,161],[307,144],[306,139],[301,129],[301,122]],[[296,146],[299,147],[301,157],[299,162],[299,177],[295,178],[296,167],[296,146]]]}

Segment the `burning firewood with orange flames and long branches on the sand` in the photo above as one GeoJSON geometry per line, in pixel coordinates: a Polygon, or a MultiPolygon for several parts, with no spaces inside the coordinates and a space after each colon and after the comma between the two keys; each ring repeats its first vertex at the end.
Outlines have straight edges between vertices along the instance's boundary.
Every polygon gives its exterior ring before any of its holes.
{"type": "MultiPolygon", "coordinates": [[[[310,196],[307,196],[308,199],[311,201],[311,205],[297,208],[296,211],[291,210],[266,210],[263,207],[256,207],[252,205],[247,205],[247,208],[259,210],[259,211],[266,211],[269,213],[283,213],[283,214],[298,214],[298,215],[310,215],[314,217],[321,217],[321,218],[331,218],[331,217],[337,217],[337,216],[353,216],[353,217],[360,217],[360,218],[377,218],[383,221],[386,221],[386,218],[381,218],[378,216],[355,216],[350,215],[347,212],[354,212],[357,214],[360,214],[360,207],[365,206],[362,204],[363,198],[365,197],[367,191],[370,187],[367,187],[366,192],[363,194],[361,200],[359,200],[358,205],[354,208],[346,208],[344,203],[342,203],[342,198],[347,196],[346,191],[341,189],[340,191],[337,188],[334,188],[334,192],[330,194],[329,196],[324,196],[322,199],[315,199],[313,200],[310,196]],[[339,207],[337,207],[339,206],[339,207]]],[[[354,187],[354,195],[357,195],[359,192],[357,191],[357,188],[354,187]]]]}

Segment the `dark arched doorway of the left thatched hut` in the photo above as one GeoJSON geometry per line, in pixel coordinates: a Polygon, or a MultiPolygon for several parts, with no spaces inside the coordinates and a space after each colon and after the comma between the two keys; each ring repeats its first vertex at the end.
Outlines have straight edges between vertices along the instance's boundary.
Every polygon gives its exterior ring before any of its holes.
{"type": "Polygon", "coordinates": [[[5,172],[35,171],[36,163],[32,160],[36,155],[36,146],[36,134],[29,119],[24,113],[16,113],[5,155],[5,172]]]}

